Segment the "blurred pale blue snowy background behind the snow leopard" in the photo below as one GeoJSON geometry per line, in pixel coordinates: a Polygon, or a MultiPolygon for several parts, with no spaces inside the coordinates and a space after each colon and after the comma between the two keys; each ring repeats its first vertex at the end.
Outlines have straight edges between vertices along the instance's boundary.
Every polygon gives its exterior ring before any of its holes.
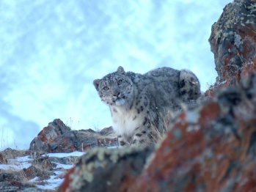
{"type": "Polygon", "coordinates": [[[202,91],[216,78],[208,38],[232,0],[1,0],[0,149],[26,149],[56,118],[111,125],[92,85],[117,70],[188,68],[202,91]]]}

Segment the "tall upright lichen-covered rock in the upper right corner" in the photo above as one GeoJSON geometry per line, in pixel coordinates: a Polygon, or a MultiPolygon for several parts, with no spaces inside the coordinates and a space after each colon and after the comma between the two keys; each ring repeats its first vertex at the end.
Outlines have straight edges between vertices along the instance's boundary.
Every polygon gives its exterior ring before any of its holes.
{"type": "Polygon", "coordinates": [[[218,87],[239,84],[256,70],[256,1],[227,4],[211,29],[218,87]]]}

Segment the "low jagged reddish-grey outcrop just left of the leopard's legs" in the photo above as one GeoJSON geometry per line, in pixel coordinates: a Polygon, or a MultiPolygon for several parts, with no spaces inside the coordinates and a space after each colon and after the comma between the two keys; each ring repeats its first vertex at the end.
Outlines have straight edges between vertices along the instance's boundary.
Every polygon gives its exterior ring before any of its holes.
{"type": "MultiPolygon", "coordinates": [[[[32,152],[74,152],[85,151],[93,147],[111,147],[117,145],[117,138],[109,136],[111,128],[95,130],[71,130],[62,120],[54,119],[38,133],[30,143],[32,152]]],[[[36,155],[36,154],[35,154],[36,155]]]]}

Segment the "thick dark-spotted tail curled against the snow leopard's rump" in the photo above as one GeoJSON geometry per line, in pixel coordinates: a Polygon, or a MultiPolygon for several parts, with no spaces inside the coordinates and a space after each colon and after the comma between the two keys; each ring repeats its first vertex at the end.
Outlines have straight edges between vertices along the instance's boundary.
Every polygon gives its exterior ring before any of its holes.
{"type": "Polygon", "coordinates": [[[180,70],[180,96],[184,102],[200,97],[200,82],[190,70],[180,70]]]}

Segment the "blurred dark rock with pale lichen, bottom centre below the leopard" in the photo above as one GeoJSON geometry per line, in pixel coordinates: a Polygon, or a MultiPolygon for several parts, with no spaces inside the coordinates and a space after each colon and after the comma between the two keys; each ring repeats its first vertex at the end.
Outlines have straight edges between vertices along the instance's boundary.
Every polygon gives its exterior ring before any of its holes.
{"type": "Polygon", "coordinates": [[[127,191],[152,148],[92,149],[65,176],[59,191],[127,191]]]}

